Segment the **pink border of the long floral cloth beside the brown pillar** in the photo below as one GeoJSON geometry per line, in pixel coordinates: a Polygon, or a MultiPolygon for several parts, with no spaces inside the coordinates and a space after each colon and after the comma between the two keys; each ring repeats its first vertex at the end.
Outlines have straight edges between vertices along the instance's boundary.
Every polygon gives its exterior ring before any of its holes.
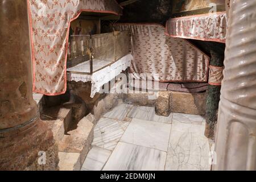
{"type": "MultiPolygon", "coordinates": [[[[117,1],[115,0],[115,2],[117,3],[117,1]]],[[[118,6],[123,9],[122,6],[119,5],[119,3],[117,3],[118,6]]],[[[91,9],[81,9],[79,11],[79,13],[77,13],[77,15],[75,15],[71,20],[69,20],[68,23],[68,31],[67,31],[67,35],[66,35],[66,39],[67,39],[67,43],[65,45],[65,68],[64,68],[64,81],[65,81],[65,85],[64,85],[64,91],[63,92],[56,92],[56,93],[44,93],[41,92],[39,90],[35,89],[35,49],[34,49],[34,39],[33,39],[33,31],[32,31],[32,15],[31,15],[31,9],[30,9],[30,0],[27,0],[27,9],[28,9],[28,19],[29,19],[29,26],[30,26],[30,43],[31,43],[31,58],[32,58],[32,74],[33,74],[33,84],[32,84],[32,91],[36,92],[36,93],[41,93],[44,94],[46,96],[59,96],[61,94],[64,94],[65,92],[67,92],[67,57],[68,57],[68,35],[69,35],[69,28],[70,28],[70,24],[73,20],[77,19],[79,17],[79,15],[83,12],[94,12],[94,13],[110,13],[110,14],[114,14],[114,15],[122,15],[122,14],[118,14],[117,12],[114,11],[103,11],[103,10],[91,10],[91,9]]]]}

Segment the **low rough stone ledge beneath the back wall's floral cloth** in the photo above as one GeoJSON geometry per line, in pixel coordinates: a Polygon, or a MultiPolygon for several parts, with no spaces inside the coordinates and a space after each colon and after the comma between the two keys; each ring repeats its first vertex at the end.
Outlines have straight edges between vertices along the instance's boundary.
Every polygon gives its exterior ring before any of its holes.
{"type": "Polygon", "coordinates": [[[157,100],[148,100],[148,93],[123,94],[123,102],[138,106],[156,107],[156,114],[172,113],[205,115],[206,93],[160,91],[157,100]]]}

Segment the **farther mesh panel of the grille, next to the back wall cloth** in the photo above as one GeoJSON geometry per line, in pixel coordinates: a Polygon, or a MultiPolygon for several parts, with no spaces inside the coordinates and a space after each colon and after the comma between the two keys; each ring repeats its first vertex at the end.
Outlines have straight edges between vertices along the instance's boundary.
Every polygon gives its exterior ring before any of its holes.
{"type": "Polygon", "coordinates": [[[130,36],[129,31],[118,32],[115,45],[115,60],[126,56],[130,51],[130,36]]]}

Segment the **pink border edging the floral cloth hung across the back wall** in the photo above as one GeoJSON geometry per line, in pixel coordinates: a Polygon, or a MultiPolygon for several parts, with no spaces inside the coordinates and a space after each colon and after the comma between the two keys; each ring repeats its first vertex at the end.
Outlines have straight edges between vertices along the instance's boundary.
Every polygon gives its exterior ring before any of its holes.
{"type": "MultiPolygon", "coordinates": [[[[164,27],[162,24],[159,23],[115,23],[115,24],[123,24],[123,25],[156,25],[156,26],[161,26],[166,30],[166,27],[164,27]]],[[[166,36],[170,36],[166,31],[165,31],[165,35],[166,36]]],[[[172,36],[171,36],[172,37],[172,36]]],[[[204,53],[203,51],[201,51],[198,47],[196,47],[194,44],[190,43],[188,40],[185,40],[185,42],[187,42],[188,44],[190,44],[191,46],[193,46],[195,49],[197,49],[197,51],[200,51],[201,53],[203,53],[203,55],[205,55],[207,57],[207,73],[205,73],[206,75],[209,75],[209,65],[210,65],[210,57],[204,53]]],[[[131,72],[130,72],[131,73],[131,72]]],[[[208,82],[208,76],[206,77],[205,81],[195,81],[195,80],[159,80],[159,82],[199,82],[199,83],[207,83],[208,82]]]]}

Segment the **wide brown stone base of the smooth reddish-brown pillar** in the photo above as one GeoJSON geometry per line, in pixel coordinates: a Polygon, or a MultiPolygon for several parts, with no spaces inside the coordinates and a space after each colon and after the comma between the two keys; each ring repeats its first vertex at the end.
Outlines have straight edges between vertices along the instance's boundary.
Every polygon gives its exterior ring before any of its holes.
{"type": "Polygon", "coordinates": [[[0,170],[58,170],[58,148],[52,131],[40,121],[0,133],[0,170]],[[38,163],[40,151],[46,164],[38,163]]]}

